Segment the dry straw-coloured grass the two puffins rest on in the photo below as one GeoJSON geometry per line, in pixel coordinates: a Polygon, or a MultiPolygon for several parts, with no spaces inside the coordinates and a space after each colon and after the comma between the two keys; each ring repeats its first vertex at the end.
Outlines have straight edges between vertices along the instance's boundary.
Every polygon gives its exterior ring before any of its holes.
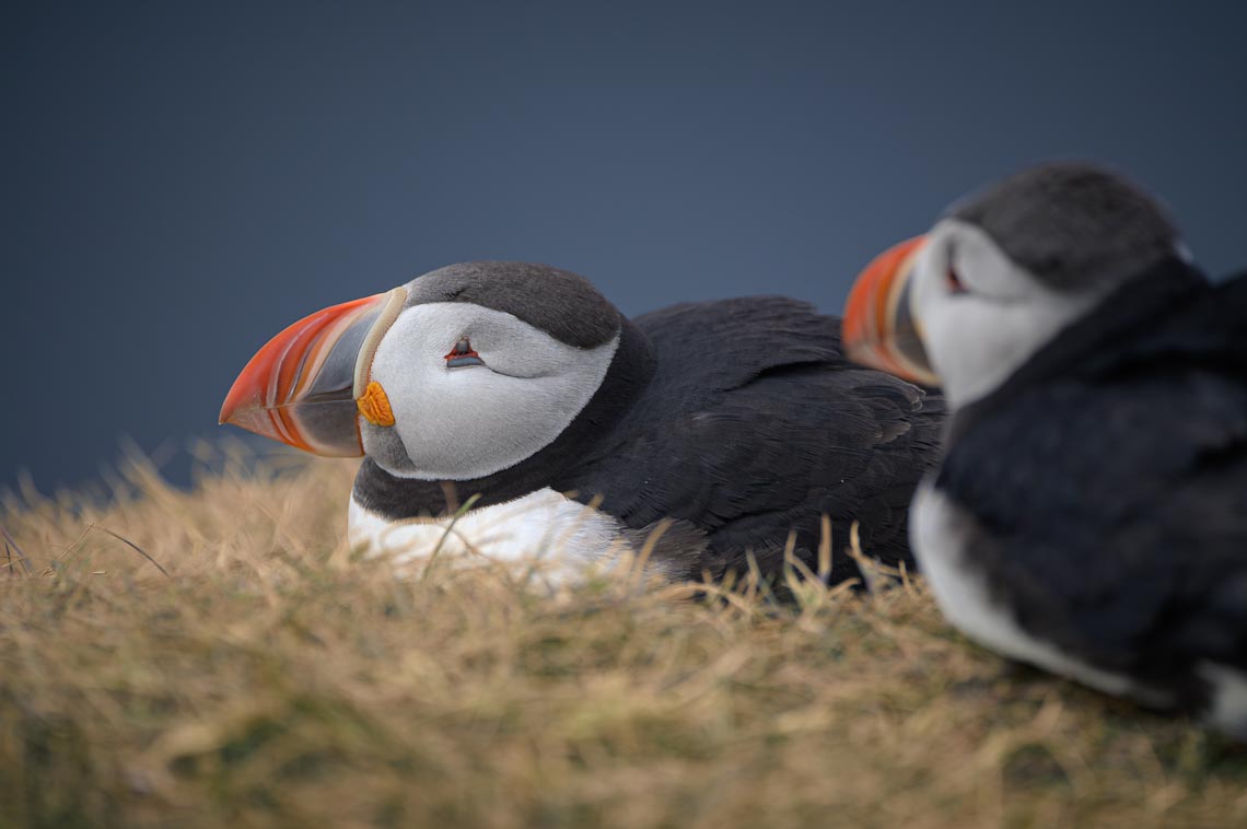
{"type": "Polygon", "coordinates": [[[1247,825],[1243,749],[975,648],[920,580],[397,581],[350,474],[0,507],[0,825],[1247,825]]]}

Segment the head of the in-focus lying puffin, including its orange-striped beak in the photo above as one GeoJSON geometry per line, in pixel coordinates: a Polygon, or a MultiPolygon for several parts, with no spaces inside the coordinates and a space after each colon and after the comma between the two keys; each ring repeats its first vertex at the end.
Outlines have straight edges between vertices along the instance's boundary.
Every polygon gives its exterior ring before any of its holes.
{"type": "Polygon", "coordinates": [[[454,264],[288,327],[247,363],[221,423],[318,455],[368,455],[399,477],[481,477],[569,426],[622,325],[567,271],[454,264]]]}

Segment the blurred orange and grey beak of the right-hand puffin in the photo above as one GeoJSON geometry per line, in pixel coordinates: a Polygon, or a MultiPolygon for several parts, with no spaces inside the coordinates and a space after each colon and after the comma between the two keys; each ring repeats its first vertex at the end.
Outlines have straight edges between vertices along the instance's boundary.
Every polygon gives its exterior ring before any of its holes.
{"type": "Polygon", "coordinates": [[[865,267],[844,305],[849,359],[922,385],[939,385],[909,307],[910,276],[927,237],[888,248],[865,267]]]}

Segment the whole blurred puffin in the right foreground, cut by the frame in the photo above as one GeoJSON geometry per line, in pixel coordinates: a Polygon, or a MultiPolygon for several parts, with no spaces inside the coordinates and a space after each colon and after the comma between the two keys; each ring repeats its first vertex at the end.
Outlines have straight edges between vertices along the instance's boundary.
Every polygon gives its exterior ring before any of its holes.
{"type": "Polygon", "coordinates": [[[1247,739],[1247,274],[1210,280],[1120,173],[1050,162],[875,258],[844,342],[943,388],[909,521],[953,626],[1247,739]]]}

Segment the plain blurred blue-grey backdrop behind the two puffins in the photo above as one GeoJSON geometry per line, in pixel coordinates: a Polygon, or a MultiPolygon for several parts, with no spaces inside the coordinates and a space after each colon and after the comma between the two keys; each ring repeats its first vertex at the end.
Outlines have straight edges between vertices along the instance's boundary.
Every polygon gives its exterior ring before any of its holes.
{"type": "Polygon", "coordinates": [[[269,335],[456,261],[837,312],[951,198],[1081,156],[1242,267],[1242,7],[6,2],[0,486],[219,435],[269,335]]]}

